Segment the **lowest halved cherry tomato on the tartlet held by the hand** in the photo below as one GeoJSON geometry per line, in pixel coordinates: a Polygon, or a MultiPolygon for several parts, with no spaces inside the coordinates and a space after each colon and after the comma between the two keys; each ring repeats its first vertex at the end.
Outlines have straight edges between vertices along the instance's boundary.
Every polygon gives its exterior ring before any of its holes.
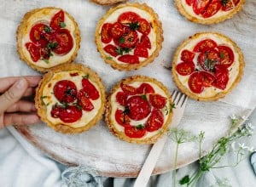
{"type": "Polygon", "coordinates": [[[75,105],[68,105],[60,111],[59,117],[62,122],[77,122],[82,117],[82,111],[75,105]]]}

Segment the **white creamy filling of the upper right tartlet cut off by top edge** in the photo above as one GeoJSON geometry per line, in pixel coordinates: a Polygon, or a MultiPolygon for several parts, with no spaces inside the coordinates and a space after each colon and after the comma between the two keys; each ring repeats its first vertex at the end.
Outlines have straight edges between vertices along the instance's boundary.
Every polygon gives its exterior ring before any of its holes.
{"type": "Polygon", "coordinates": [[[227,14],[230,13],[230,11],[232,11],[233,9],[229,10],[229,11],[223,11],[221,8],[218,10],[218,12],[214,15],[212,15],[210,18],[203,18],[201,16],[201,14],[195,14],[194,10],[193,10],[193,4],[191,6],[189,6],[186,3],[186,0],[181,0],[182,6],[183,8],[186,10],[186,12],[188,12],[190,15],[193,15],[195,18],[199,19],[199,20],[210,20],[210,19],[215,19],[218,17],[222,17],[225,16],[227,14]]]}

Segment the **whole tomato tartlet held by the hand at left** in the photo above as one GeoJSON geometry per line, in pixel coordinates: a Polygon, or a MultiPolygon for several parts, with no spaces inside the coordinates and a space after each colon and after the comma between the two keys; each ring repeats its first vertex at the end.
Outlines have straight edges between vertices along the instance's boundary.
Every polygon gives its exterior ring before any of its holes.
{"type": "Polygon", "coordinates": [[[49,127],[61,133],[82,133],[102,118],[105,87],[88,67],[61,65],[44,75],[35,101],[38,116],[49,127]]]}

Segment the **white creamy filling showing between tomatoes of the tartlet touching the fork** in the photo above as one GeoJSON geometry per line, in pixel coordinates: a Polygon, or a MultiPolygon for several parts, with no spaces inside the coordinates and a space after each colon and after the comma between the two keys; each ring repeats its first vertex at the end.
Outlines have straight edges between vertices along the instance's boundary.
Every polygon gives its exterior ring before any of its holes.
{"type": "MultiPolygon", "coordinates": [[[[132,82],[132,83],[129,84],[129,85],[132,86],[132,87],[138,88],[142,83],[143,83],[143,82],[132,82]]],[[[165,93],[159,86],[157,86],[156,84],[154,84],[154,83],[152,83],[152,82],[144,82],[144,83],[150,84],[150,86],[151,86],[152,88],[154,88],[154,93],[155,93],[155,94],[160,94],[161,96],[167,98],[166,93],[165,93]]],[[[113,122],[114,127],[115,127],[119,132],[125,132],[125,127],[119,125],[119,124],[116,122],[116,120],[115,120],[115,111],[117,111],[118,109],[119,109],[119,110],[122,110],[122,111],[125,110],[125,107],[122,106],[122,105],[119,105],[119,103],[116,101],[116,94],[117,94],[118,92],[123,92],[122,88],[119,88],[118,90],[116,90],[116,92],[114,92],[114,93],[111,95],[112,111],[111,111],[111,116],[110,116],[110,118],[111,118],[111,122],[113,122]]],[[[148,94],[147,94],[147,95],[148,95],[148,94]]],[[[166,106],[169,106],[169,105],[170,105],[170,102],[169,102],[169,100],[167,100],[166,106]]],[[[152,109],[153,109],[153,108],[152,108],[152,109]]],[[[164,124],[165,124],[165,123],[166,123],[166,120],[167,120],[167,118],[168,118],[168,115],[166,115],[166,112],[164,111],[164,109],[161,109],[161,110],[163,111],[163,115],[164,115],[164,124]]],[[[131,120],[130,124],[131,124],[132,126],[137,126],[137,125],[140,125],[140,124],[145,124],[145,123],[147,122],[149,116],[150,116],[150,114],[149,114],[146,118],[144,118],[143,120],[140,120],[140,121],[131,120]]],[[[154,132],[148,132],[148,131],[147,131],[146,135],[143,136],[143,138],[141,138],[141,139],[148,139],[148,138],[154,136],[155,134],[159,133],[160,130],[161,130],[161,128],[158,129],[158,130],[156,130],[156,131],[154,131],[154,132]]]]}

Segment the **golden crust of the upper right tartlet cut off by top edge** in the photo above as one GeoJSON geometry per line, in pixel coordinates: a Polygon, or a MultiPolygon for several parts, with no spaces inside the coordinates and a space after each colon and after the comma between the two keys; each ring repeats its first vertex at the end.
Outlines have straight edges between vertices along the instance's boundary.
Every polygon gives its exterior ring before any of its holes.
{"type": "Polygon", "coordinates": [[[218,17],[212,16],[206,19],[203,17],[197,17],[194,12],[193,14],[191,14],[188,10],[186,10],[186,8],[183,7],[182,1],[185,1],[185,0],[175,0],[175,4],[178,12],[192,22],[205,24],[205,25],[216,24],[218,22],[232,18],[234,14],[236,14],[241,10],[241,8],[243,7],[243,4],[245,3],[245,0],[240,0],[240,2],[236,5],[236,7],[229,10],[227,14],[224,14],[218,17]]]}

